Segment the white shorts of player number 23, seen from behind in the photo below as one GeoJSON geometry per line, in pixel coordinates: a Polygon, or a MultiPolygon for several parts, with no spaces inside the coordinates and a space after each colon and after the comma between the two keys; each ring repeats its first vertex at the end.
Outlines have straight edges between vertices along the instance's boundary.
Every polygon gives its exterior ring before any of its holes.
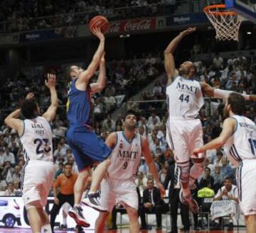
{"type": "Polygon", "coordinates": [[[22,198],[25,205],[40,201],[41,207],[47,203],[53,185],[54,164],[51,161],[30,160],[24,167],[22,198]]]}

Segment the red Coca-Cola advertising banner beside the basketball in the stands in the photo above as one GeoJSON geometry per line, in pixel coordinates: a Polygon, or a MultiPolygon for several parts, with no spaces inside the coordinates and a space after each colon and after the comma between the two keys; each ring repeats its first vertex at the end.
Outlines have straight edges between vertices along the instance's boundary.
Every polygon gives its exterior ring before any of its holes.
{"type": "Polygon", "coordinates": [[[109,33],[131,33],[132,31],[156,29],[156,18],[130,19],[128,21],[111,22],[109,33]]]}

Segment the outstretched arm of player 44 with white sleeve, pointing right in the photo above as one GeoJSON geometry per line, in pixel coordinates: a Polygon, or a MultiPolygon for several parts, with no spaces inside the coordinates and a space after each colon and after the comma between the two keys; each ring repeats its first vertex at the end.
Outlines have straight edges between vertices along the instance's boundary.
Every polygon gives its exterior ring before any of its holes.
{"type": "MultiPolygon", "coordinates": [[[[209,84],[206,84],[205,82],[201,82],[201,89],[203,91],[203,94],[209,97],[215,97],[215,98],[224,98],[227,99],[230,93],[237,93],[235,91],[228,91],[228,90],[222,90],[222,89],[215,89],[209,84]]],[[[239,93],[242,95],[246,101],[256,101],[256,95],[247,95],[243,93],[239,93]]]]}

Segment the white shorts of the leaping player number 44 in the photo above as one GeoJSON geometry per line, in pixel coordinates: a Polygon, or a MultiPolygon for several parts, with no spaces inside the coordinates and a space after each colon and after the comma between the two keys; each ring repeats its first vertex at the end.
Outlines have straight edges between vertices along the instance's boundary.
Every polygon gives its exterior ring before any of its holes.
{"type": "Polygon", "coordinates": [[[193,149],[203,146],[201,120],[169,117],[166,124],[166,141],[174,151],[177,164],[188,162],[193,155],[193,149]]]}

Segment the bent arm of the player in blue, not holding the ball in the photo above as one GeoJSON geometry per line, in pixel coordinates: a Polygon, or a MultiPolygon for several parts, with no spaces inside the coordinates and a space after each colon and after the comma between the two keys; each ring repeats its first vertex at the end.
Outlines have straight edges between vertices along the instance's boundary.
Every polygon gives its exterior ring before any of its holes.
{"type": "Polygon", "coordinates": [[[100,59],[100,74],[98,76],[97,82],[90,84],[90,89],[92,93],[96,93],[105,89],[106,86],[106,64],[105,64],[105,54],[102,55],[100,59]]]}

